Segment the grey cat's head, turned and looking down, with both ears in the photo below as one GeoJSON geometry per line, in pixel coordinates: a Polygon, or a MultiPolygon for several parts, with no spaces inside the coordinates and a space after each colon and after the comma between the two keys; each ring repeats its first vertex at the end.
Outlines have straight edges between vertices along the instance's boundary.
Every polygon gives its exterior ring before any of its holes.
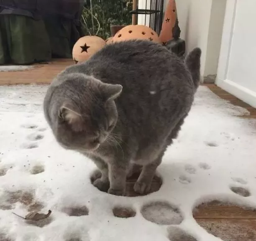
{"type": "Polygon", "coordinates": [[[105,84],[84,74],[61,78],[51,111],[56,140],[67,149],[94,151],[115,127],[118,112],[114,100],[122,86],[105,84]]]}

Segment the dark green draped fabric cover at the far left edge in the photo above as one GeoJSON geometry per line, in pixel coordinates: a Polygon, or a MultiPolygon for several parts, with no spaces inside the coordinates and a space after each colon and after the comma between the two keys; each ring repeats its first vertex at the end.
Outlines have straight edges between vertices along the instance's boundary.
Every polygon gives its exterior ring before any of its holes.
{"type": "Polygon", "coordinates": [[[49,61],[51,44],[43,20],[0,15],[0,64],[49,61]]]}

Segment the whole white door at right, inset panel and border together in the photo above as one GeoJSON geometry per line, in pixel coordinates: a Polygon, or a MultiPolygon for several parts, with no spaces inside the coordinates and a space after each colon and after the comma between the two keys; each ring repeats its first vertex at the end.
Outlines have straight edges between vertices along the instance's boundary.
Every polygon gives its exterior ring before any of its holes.
{"type": "Polygon", "coordinates": [[[216,84],[256,107],[256,1],[228,0],[216,84]]]}

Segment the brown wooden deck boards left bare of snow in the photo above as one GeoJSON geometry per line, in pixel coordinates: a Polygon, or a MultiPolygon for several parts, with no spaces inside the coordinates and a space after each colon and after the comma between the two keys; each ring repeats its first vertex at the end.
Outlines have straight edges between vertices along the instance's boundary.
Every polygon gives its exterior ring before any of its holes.
{"type": "MultiPolygon", "coordinates": [[[[48,64],[36,64],[35,68],[28,71],[0,72],[0,85],[49,84],[56,74],[71,64],[73,64],[72,59],[58,59],[48,64]]],[[[214,84],[206,84],[206,86],[231,104],[244,107],[250,112],[250,115],[241,118],[256,118],[256,109],[250,105],[214,84]]],[[[135,181],[136,178],[133,177],[127,182],[128,196],[136,195],[133,191],[135,181]]],[[[151,192],[159,190],[160,187],[161,179],[154,178],[151,192]]],[[[224,241],[256,241],[256,211],[254,210],[215,201],[197,207],[194,218],[209,233],[224,241]]]]}

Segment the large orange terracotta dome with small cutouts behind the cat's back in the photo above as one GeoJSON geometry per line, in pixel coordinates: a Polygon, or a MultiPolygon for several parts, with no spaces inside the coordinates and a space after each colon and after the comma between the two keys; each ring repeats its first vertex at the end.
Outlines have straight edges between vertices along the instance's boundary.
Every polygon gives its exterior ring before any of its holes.
{"type": "Polygon", "coordinates": [[[161,43],[157,33],[145,25],[128,25],[122,28],[115,34],[113,42],[120,42],[131,39],[142,39],[161,43]]]}

